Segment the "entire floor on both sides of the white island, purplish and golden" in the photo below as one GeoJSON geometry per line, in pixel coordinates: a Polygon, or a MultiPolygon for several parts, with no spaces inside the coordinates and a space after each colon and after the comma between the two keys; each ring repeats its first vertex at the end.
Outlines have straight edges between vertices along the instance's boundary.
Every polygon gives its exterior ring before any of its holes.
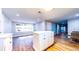
{"type": "MultiPolygon", "coordinates": [[[[32,36],[13,39],[13,51],[34,51],[32,36]]],[[[45,51],[79,51],[79,43],[71,39],[55,36],[55,43],[45,51]]]]}

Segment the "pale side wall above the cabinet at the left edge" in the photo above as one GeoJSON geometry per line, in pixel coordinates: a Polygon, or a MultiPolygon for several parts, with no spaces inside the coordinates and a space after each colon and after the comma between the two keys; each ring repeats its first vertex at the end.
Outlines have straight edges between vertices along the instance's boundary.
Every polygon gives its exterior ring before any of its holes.
{"type": "Polygon", "coordinates": [[[11,33],[11,20],[4,16],[2,9],[0,9],[0,32],[11,33]]]}

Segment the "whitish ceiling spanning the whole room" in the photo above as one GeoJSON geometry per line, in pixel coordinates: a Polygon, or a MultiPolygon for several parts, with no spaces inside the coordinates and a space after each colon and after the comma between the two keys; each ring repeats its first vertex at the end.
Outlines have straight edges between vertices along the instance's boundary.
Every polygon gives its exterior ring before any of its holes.
{"type": "Polygon", "coordinates": [[[38,22],[43,20],[60,21],[69,19],[79,13],[78,8],[2,8],[3,14],[12,21],[38,22]],[[19,15],[17,15],[19,14],[19,15]]]}

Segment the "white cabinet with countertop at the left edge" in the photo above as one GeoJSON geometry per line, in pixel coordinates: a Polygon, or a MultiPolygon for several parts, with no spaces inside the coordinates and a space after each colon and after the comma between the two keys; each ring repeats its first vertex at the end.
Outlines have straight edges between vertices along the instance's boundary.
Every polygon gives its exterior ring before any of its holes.
{"type": "Polygon", "coordinates": [[[0,34],[0,51],[12,51],[11,34],[0,34]]]}

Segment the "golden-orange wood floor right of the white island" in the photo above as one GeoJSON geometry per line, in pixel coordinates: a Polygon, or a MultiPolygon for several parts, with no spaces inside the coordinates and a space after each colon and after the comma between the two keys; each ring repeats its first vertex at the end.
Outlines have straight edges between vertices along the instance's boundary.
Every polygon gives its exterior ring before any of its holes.
{"type": "Polygon", "coordinates": [[[72,39],[55,37],[56,43],[46,51],[79,51],[79,43],[72,39]]]}

